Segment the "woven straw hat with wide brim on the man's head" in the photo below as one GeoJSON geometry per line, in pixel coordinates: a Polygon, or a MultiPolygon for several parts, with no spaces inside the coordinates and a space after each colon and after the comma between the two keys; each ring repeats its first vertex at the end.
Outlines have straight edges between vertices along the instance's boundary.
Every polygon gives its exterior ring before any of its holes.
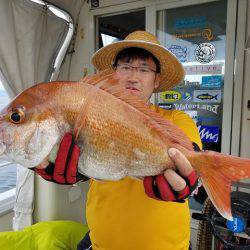
{"type": "Polygon", "coordinates": [[[97,70],[112,68],[117,54],[125,48],[138,47],[151,52],[160,62],[160,85],[154,92],[171,89],[180,83],[185,75],[179,60],[157,38],[146,31],[130,33],[123,41],[111,43],[99,49],[92,57],[97,70]]]}

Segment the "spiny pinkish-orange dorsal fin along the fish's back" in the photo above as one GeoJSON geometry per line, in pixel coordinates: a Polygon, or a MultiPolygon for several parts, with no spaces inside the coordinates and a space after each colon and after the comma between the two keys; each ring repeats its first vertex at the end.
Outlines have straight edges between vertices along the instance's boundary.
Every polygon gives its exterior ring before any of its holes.
{"type": "Polygon", "coordinates": [[[150,125],[160,134],[165,135],[168,142],[193,150],[192,143],[186,134],[177,125],[164,119],[160,114],[151,110],[144,101],[127,91],[123,85],[119,84],[119,79],[114,77],[114,71],[105,70],[91,77],[83,78],[81,81],[104,90],[142,112],[148,118],[150,125]]]}

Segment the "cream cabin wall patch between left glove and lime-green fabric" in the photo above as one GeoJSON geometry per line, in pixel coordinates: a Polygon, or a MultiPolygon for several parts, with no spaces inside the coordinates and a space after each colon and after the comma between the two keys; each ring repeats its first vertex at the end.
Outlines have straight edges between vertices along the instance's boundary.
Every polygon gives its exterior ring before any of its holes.
{"type": "Polygon", "coordinates": [[[71,185],[58,185],[36,176],[34,222],[48,220],[73,220],[86,224],[85,200],[88,183],[80,183],[81,194],[71,185]],[[74,201],[70,199],[76,196],[74,201]]]}

